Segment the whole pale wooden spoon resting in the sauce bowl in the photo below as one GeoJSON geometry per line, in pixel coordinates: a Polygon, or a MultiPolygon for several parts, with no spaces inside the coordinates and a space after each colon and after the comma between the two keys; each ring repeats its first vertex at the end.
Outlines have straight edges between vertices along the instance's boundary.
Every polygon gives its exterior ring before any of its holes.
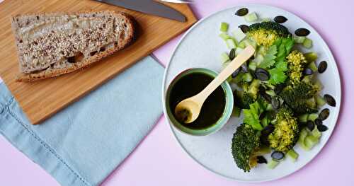
{"type": "Polygon", "coordinates": [[[237,55],[229,65],[226,66],[212,82],[207,85],[200,93],[190,98],[182,100],[175,108],[175,114],[178,119],[185,123],[191,123],[197,119],[202,109],[202,104],[207,97],[219,87],[236,69],[244,64],[253,54],[255,50],[252,46],[246,47],[239,55],[237,55]]]}

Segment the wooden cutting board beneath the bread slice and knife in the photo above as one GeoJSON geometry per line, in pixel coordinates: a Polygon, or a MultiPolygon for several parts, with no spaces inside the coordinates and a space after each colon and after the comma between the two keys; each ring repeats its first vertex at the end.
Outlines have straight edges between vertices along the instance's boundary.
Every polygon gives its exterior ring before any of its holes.
{"type": "MultiPolygon", "coordinates": [[[[134,1],[134,0],[132,0],[134,1]]],[[[5,0],[0,3],[0,76],[33,124],[38,124],[65,106],[89,93],[120,71],[146,57],[157,47],[182,33],[196,22],[187,5],[167,4],[183,13],[186,23],[130,11],[91,0],[5,0]],[[18,59],[11,31],[11,15],[54,11],[82,10],[122,11],[132,15],[139,28],[137,40],[125,50],[116,52],[84,71],[35,83],[18,83],[18,59]]],[[[149,70],[149,69],[147,69],[149,70]]],[[[159,90],[156,90],[159,91],[159,90]]]]}

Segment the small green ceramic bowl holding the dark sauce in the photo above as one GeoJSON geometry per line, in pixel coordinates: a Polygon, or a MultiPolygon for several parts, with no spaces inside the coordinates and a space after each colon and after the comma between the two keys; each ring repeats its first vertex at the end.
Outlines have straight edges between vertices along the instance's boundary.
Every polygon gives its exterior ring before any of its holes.
{"type": "Polygon", "coordinates": [[[217,76],[217,72],[212,71],[210,69],[187,69],[183,72],[181,72],[181,74],[178,74],[170,83],[169,88],[167,88],[166,91],[166,97],[165,97],[165,105],[166,105],[166,113],[167,113],[167,118],[169,119],[169,121],[171,122],[171,124],[173,124],[174,127],[176,127],[176,129],[180,130],[181,132],[184,132],[186,134],[191,134],[193,136],[205,136],[207,134],[212,134],[214,132],[217,132],[219,129],[221,129],[224,124],[227,123],[227,120],[229,120],[231,114],[232,114],[232,109],[234,107],[234,95],[232,94],[232,88],[230,87],[229,83],[227,83],[227,81],[224,81],[224,83],[222,83],[222,89],[224,90],[224,94],[225,94],[225,108],[224,108],[224,112],[222,113],[222,116],[219,118],[219,120],[217,120],[217,122],[215,124],[210,125],[210,127],[207,127],[205,129],[190,129],[188,127],[184,127],[180,122],[178,122],[178,120],[176,120],[176,118],[173,115],[173,108],[171,108],[170,104],[169,104],[169,99],[170,99],[170,95],[171,95],[171,90],[173,88],[173,86],[176,84],[176,82],[178,82],[178,80],[180,80],[183,76],[186,76],[188,74],[193,74],[193,73],[203,73],[203,74],[207,74],[208,76],[212,76],[213,78],[215,78],[217,76]]]}

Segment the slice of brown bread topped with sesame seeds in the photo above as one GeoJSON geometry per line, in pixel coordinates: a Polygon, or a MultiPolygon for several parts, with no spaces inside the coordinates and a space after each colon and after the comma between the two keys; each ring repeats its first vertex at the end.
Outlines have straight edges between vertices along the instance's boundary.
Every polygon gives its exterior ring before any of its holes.
{"type": "Polygon", "coordinates": [[[12,18],[21,73],[17,81],[37,81],[98,62],[132,42],[134,25],[125,13],[82,11],[12,18]]]}

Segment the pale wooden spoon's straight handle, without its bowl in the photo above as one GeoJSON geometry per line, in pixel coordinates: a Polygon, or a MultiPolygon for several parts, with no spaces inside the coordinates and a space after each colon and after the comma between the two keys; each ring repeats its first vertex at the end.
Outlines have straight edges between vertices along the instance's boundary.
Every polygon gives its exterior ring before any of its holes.
{"type": "Polygon", "coordinates": [[[218,86],[222,84],[231,74],[239,69],[239,67],[244,64],[253,54],[255,50],[250,45],[246,47],[239,55],[237,55],[229,65],[227,65],[224,70],[222,70],[217,77],[209,83],[207,87],[205,87],[199,94],[198,99],[200,99],[204,103],[207,97],[217,89],[218,86]]]}

